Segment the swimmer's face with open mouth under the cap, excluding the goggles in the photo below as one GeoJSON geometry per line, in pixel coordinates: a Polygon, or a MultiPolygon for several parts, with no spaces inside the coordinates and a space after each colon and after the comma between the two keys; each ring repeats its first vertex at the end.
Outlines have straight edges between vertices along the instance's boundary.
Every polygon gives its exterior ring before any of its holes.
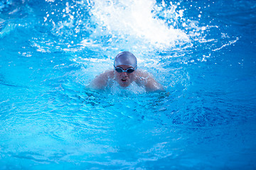
{"type": "MultiPolygon", "coordinates": [[[[121,67],[123,70],[133,68],[133,67],[128,66],[128,65],[118,65],[117,67],[121,67]]],[[[135,76],[136,76],[136,70],[132,73],[127,73],[127,72],[120,72],[119,73],[117,71],[114,71],[114,77],[115,77],[117,83],[122,87],[129,86],[132,83],[132,81],[134,81],[135,76]]]]}

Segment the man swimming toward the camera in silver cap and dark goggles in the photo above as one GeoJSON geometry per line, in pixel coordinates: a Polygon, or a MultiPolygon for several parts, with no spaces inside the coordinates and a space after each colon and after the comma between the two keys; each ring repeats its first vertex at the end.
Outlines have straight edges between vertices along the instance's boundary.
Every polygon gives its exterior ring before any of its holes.
{"type": "Polygon", "coordinates": [[[114,58],[114,69],[103,72],[90,83],[90,88],[95,90],[105,89],[110,80],[117,81],[119,86],[126,88],[132,82],[143,86],[146,91],[163,91],[151,74],[137,69],[137,58],[132,52],[121,52],[114,58]]]}

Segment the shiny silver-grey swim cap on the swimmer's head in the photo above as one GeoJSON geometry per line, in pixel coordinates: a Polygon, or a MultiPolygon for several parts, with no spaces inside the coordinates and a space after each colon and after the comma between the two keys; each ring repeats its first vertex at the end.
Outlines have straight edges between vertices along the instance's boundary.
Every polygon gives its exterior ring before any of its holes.
{"type": "Polygon", "coordinates": [[[118,65],[129,65],[136,68],[137,58],[132,54],[132,52],[121,52],[114,58],[114,67],[117,67],[118,65]]]}

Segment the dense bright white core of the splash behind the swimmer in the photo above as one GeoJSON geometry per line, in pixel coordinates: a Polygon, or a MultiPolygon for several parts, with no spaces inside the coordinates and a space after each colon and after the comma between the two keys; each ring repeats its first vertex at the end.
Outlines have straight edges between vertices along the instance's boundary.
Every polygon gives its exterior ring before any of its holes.
{"type": "Polygon", "coordinates": [[[175,11],[176,6],[169,8],[165,4],[159,6],[154,0],[140,1],[99,1],[92,6],[92,21],[97,23],[100,31],[97,34],[112,35],[113,38],[137,40],[136,45],[157,48],[174,47],[177,42],[188,42],[189,37],[180,29],[175,29],[159,18],[159,13],[164,10],[165,16],[182,17],[182,11],[175,11]],[[99,33],[104,32],[104,33],[99,33]]]}

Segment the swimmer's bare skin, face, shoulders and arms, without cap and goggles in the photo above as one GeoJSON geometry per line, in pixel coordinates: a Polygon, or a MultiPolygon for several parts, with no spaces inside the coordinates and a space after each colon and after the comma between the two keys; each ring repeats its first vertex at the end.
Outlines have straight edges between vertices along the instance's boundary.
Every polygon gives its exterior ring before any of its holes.
{"type": "MultiPolygon", "coordinates": [[[[118,65],[124,70],[132,68],[128,65],[118,65]]],[[[108,70],[102,74],[95,77],[90,83],[90,88],[95,90],[103,90],[107,86],[109,79],[114,79],[117,81],[119,86],[127,87],[134,81],[138,86],[144,86],[146,91],[164,91],[164,87],[159,84],[154,77],[148,72],[143,72],[142,70],[135,70],[132,73],[127,72],[116,72],[115,70],[108,70]]]]}

